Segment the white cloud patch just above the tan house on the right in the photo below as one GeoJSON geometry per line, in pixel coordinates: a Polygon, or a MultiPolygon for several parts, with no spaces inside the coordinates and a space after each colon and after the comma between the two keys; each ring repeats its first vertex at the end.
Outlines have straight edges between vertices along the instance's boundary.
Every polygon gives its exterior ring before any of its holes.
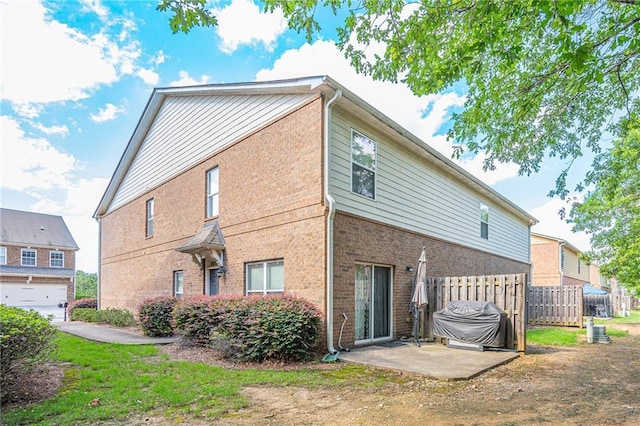
{"type": "Polygon", "coordinates": [[[560,218],[560,210],[571,209],[571,204],[560,198],[552,198],[541,206],[533,208],[529,213],[538,219],[540,223],[531,228],[532,232],[562,238],[580,249],[587,251],[591,248],[589,235],[585,232],[572,232],[572,225],[560,218]]]}

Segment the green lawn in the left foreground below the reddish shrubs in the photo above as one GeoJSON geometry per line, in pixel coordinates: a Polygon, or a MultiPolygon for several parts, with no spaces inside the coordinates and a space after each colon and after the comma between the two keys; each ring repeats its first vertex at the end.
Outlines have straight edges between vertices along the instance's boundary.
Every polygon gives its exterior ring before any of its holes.
{"type": "MultiPolygon", "coordinates": [[[[87,341],[59,333],[56,360],[65,378],[58,394],[25,407],[3,409],[3,424],[90,424],[136,415],[212,421],[246,407],[244,386],[367,386],[384,374],[345,365],[337,370],[229,370],[172,361],[155,346],[87,341]],[[91,402],[99,399],[99,404],[91,402]]],[[[390,380],[390,379],[389,379],[390,380]]]]}

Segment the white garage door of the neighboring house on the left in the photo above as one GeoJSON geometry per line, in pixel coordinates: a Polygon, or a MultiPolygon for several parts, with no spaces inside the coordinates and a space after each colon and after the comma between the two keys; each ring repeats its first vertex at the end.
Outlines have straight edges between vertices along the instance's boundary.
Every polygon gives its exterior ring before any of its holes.
{"type": "Polygon", "coordinates": [[[0,284],[2,303],[7,306],[55,306],[67,300],[64,284],[0,284]]]}

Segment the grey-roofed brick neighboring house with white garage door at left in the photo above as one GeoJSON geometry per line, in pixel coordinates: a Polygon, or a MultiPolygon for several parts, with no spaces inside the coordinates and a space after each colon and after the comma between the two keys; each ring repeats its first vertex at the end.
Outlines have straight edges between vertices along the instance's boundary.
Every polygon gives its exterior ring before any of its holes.
{"type": "Polygon", "coordinates": [[[0,209],[0,297],[7,306],[74,298],[78,245],[60,216],[0,209]]]}

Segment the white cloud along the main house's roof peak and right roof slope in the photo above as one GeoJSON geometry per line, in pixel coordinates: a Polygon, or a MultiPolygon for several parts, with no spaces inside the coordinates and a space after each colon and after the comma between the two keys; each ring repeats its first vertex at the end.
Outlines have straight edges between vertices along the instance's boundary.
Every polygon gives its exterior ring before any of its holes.
{"type": "MultiPolygon", "coordinates": [[[[300,76],[329,75],[380,110],[427,144],[451,158],[453,147],[446,135],[436,134],[450,119],[450,109],[464,105],[466,97],[454,92],[417,97],[405,85],[374,81],[357,74],[344,55],[330,41],[316,41],[299,49],[288,50],[271,69],[260,70],[256,80],[277,80],[300,76]]],[[[496,170],[482,170],[483,155],[472,159],[454,160],[462,168],[492,185],[517,176],[513,164],[499,164],[496,170]]]]}

